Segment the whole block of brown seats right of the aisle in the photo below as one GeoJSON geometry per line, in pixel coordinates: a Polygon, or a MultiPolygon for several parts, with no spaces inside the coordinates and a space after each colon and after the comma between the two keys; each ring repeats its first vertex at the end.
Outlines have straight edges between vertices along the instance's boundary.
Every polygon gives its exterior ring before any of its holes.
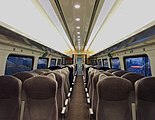
{"type": "Polygon", "coordinates": [[[88,65],[83,70],[90,119],[155,119],[155,77],[116,69],[97,70],[88,65]]]}

